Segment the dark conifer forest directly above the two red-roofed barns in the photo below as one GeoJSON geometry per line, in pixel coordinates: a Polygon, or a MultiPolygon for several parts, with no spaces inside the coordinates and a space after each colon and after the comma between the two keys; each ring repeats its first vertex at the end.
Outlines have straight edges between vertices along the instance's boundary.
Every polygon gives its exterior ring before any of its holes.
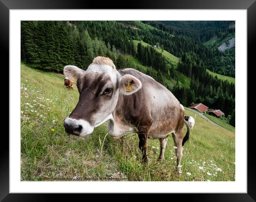
{"type": "Polygon", "coordinates": [[[181,57],[177,70],[191,78],[189,88],[173,88],[173,93],[182,104],[191,106],[201,102],[210,108],[220,109],[225,116],[231,115],[235,108],[235,84],[210,75],[204,62],[193,52],[181,57]]]}

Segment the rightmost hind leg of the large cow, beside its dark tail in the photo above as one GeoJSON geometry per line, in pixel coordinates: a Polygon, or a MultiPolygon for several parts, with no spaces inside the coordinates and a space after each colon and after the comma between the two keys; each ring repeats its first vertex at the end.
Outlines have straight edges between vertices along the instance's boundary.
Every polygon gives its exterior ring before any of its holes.
{"type": "Polygon", "coordinates": [[[183,151],[183,147],[182,147],[183,127],[179,131],[173,132],[172,138],[173,138],[174,144],[176,146],[175,153],[176,153],[176,157],[177,157],[178,171],[179,171],[179,173],[181,173],[181,158],[183,156],[183,154],[182,154],[182,151],[183,151]]]}

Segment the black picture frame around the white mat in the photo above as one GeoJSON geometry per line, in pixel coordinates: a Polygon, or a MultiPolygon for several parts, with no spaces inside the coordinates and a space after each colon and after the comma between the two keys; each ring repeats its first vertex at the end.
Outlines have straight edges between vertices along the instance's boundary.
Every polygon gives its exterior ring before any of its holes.
{"type": "MultiPolygon", "coordinates": [[[[179,0],[179,1],[129,1],[129,4],[117,4],[116,9],[246,9],[247,10],[247,60],[248,64],[253,64],[255,57],[255,36],[256,36],[256,1],[255,0],[179,0]]],[[[105,1],[100,4],[95,4],[92,1],[72,0],[72,1],[59,1],[59,0],[0,0],[0,44],[2,49],[2,58],[9,58],[9,10],[10,9],[113,9],[110,2],[105,1]]],[[[1,60],[2,65],[9,67],[9,60],[1,60]]],[[[248,65],[249,66],[249,65],[248,65]]],[[[254,65],[255,66],[255,65],[254,65]]],[[[9,75],[8,68],[5,68],[7,75],[9,75]]],[[[248,71],[248,68],[247,68],[248,71]]],[[[247,74],[248,75],[248,74],[247,74]]],[[[9,75],[10,77],[10,75],[9,75]]],[[[248,91],[247,91],[248,92],[248,91]]],[[[9,105],[9,108],[11,106],[9,105]]],[[[244,117],[247,118],[247,117],[244,117]]],[[[250,123],[249,118],[247,118],[250,123]]],[[[11,121],[11,120],[9,120],[11,121]]],[[[246,128],[246,135],[247,135],[246,128]]],[[[189,201],[256,201],[256,160],[253,151],[253,135],[247,135],[247,193],[191,193],[191,194],[172,194],[171,200],[189,200],[189,201]]],[[[0,200],[2,201],[45,201],[52,199],[56,196],[50,194],[17,194],[9,193],[9,137],[2,134],[2,146],[1,146],[1,172],[0,172],[0,200]]],[[[171,187],[170,187],[171,191],[171,187]]],[[[189,190],[184,190],[185,192],[189,190]]],[[[28,190],[29,192],[29,190],[28,190]]],[[[200,190],[198,190],[200,192],[200,190]]],[[[151,200],[161,200],[166,195],[152,196],[147,195],[151,200]]],[[[57,196],[58,200],[68,200],[67,195],[57,196]]],[[[88,196],[87,196],[88,197],[88,196]]],[[[94,196],[93,196],[94,197],[94,196]]],[[[105,196],[103,197],[110,197],[105,196]]],[[[125,196],[119,196],[115,194],[111,196],[111,200],[124,200],[128,201],[133,197],[132,194],[126,193],[125,196]]],[[[144,196],[143,196],[144,197],[144,196]]],[[[168,197],[168,196],[167,196],[168,197]]],[[[85,199],[85,198],[84,198],[85,199]]],[[[87,198],[86,198],[87,199],[87,198]]],[[[146,199],[146,198],[145,198],[146,199]]],[[[79,200],[74,199],[73,200],[79,200]]]]}

